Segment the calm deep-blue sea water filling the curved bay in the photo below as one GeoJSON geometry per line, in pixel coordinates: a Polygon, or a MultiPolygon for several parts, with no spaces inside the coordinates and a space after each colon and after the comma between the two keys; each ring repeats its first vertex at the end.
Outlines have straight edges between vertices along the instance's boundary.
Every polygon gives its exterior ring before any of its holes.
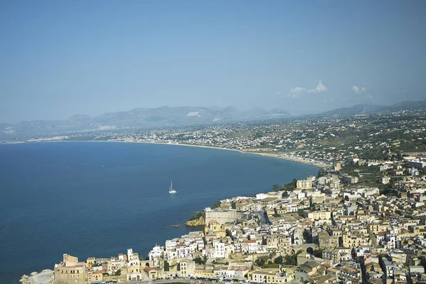
{"type": "Polygon", "coordinates": [[[255,195],[318,168],[211,148],[140,143],[0,145],[0,283],[186,234],[183,224],[217,200],[255,195]],[[178,191],[168,193],[170,180],[178,191]]]}

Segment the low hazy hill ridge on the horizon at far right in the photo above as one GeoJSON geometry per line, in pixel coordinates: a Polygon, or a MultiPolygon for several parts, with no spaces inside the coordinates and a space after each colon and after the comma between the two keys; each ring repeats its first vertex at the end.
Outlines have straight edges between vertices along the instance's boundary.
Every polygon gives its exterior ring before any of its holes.
{"type": "Polygon", "coordinates": [[[372,114],[376,112],[405,111],[405,110],[426,110],[426,100],[417,102],[398,102],[391,106],[356,104],[354,107],[342,107],[341,109],[333,109],[326,111],[320,116],[351,116],[355,114],[372,114]]]}

